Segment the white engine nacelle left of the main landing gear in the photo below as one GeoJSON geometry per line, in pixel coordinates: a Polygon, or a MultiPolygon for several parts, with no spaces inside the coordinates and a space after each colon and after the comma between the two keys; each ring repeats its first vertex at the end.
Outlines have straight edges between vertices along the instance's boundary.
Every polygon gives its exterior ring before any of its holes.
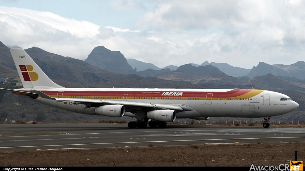
{"type": "Polygon", "coordinates": [[[125,107],[120,104],[105,105],[95,108],[96,115],[121,117],[124,116],[124,113],[125,113],[125,107]]]}

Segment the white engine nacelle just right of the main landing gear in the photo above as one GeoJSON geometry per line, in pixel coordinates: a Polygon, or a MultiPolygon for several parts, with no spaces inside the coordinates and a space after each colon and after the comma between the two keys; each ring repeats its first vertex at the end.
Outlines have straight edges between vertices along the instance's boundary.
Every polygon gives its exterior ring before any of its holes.
{"type": "Polygon", "coordinates": [[[156,110],[147,112],[147,118],[163,121],[163,122],[172,122],[176,119],[176,111],[174,110],[156,110]]]}

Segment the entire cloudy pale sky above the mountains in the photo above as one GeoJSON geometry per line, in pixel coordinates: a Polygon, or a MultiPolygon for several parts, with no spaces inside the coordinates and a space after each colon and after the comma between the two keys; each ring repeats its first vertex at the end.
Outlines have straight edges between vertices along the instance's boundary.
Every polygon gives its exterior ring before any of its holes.
{"type": "Polygon", "coordinates": [[[302,0],[0,0],[0,41],[85,60],[97,46],[163,68],[305,60],[302,0]]]}

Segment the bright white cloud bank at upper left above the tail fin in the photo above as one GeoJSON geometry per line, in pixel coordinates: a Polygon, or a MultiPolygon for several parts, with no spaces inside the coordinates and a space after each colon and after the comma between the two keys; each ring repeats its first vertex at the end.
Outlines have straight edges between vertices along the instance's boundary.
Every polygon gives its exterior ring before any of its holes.
{"type": "Polygon", "coordinates": [[[51,12],[0,7],[0,31],[5,33],[0,40],[5,44],[25,49],[36,46],[51,53],[85,59],[90,53],[88,46],[92,50],[91,44],[100,34],[100,26],[51,12]]]}

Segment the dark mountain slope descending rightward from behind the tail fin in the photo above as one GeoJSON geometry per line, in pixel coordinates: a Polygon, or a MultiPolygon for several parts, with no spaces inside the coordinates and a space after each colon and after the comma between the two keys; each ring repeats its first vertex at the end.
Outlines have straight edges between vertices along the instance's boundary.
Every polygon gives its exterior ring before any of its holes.
{"type": "MultiPolygon", "coordinates": [[[[118,74],[94,67],[83,60],[49,53],[37,47],[32,47],[25,51],[32,57],[38,66],[41,67],[48,77],[57,81],[57,84],[61,82],[63,84],[68,83],[69,86],[72,86],[73,84],[85,86],[96,83],[105,84],[110,80],[114,81],[121,78],[118,74]]],[[[73,85],[73,87],[74,86],[75,85],[73,85]]]]}

